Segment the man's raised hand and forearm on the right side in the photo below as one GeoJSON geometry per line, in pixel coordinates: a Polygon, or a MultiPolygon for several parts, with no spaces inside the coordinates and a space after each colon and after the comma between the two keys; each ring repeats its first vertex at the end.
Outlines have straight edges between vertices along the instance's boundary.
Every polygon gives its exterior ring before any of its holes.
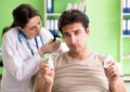
{"type": "Polygon", "coordinates": [[[109,66],[104,68],[108,79],[112,92],[126,92],[125,82],[120,76],[119,68],[114,61],[109,62],[109,66]]]}

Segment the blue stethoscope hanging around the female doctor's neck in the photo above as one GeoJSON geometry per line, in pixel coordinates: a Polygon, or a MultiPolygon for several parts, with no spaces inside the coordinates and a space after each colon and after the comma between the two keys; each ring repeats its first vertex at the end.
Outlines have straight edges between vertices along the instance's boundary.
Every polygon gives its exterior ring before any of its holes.
{"type": "MultiPolygon", "coordinates": [[[[27,37],[25,36],[25,34],[24,34],[22,30],[18,29],[17,38],[18,38],[18,41],[22,43],[22,38],[21,38],[21,36],[23,36],[23,37],[26,39],[27,47],[28,47],[31,55],[34,55],[35,53],[34,53],[34,51],[32,51],[32,49],[31,49],[31,47],[30,47],[30,44],[29,44],[29,42],[28,42],[28,40],[27,40],[27,37]]],[[[39,37],[40,37],[40,41],[41,41],[41,43],[42,43],[42,45],[43,45],[43,40],[42,40],[41,35],[39,35],[39,37]]],[[[36,37],[35,37],[35,42],[36,42],[37,50],[39,50],[38,40],[37,40],[36,37]]]]}

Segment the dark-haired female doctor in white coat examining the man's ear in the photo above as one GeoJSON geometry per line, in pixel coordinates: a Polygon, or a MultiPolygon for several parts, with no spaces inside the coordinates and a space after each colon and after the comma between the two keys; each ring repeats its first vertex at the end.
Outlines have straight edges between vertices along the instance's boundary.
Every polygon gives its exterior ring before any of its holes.
{"type": "Polygon", "coordinates": [[[60,48],[60,41],[41,27],[40,14],[29,4],[13,10],[13,24],[2,39],[1,92],[32,92],[32,78],[42,56],[60,48]]]}

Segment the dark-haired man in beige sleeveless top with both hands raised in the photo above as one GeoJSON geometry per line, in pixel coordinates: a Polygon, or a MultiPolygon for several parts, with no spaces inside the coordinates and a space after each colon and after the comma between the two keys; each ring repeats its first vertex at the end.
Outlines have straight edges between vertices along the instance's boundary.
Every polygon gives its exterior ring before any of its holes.
{"type": "Polygon", "coordinates": [[[54,69],[40,65],[36,92],[126,92],[115,62],[109,60],[104,68],[105,55],[89,50],[89,17],[84,13],[63,12],[58,29],[69,51],[60,54],[54,69]]]}

